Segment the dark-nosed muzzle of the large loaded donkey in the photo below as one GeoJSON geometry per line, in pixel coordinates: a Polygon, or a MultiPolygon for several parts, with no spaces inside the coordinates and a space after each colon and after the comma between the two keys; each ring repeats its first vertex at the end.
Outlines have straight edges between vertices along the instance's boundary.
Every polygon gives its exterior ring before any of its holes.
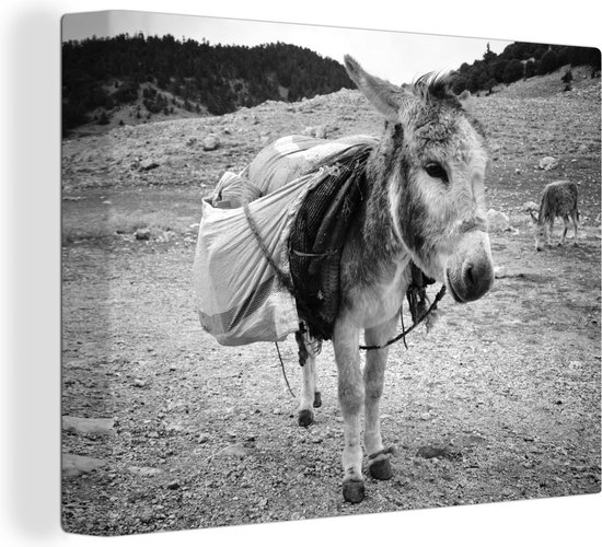
{"type": "Polygon", "coordinates": [[[456,302],[473,302],[494,284],[494,264],[486,233],[466,234],[447,265],[447,286],[456,302]]]}

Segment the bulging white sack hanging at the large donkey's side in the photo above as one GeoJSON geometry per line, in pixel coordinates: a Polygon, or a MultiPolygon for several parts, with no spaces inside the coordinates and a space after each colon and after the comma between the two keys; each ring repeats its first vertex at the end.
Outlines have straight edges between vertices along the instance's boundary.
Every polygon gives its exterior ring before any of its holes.
{"type": "MultiPolygon", "coordinates": [[[[315,178],[297,178],[248,203],[270,256],[286,274],[298,198],[315,178]]],[[[299,329],[294,298],[279,284],[243,208],[219,209],[204,200],[193,280],[200,323],[224,346],[278,341],[299,329]]]]}

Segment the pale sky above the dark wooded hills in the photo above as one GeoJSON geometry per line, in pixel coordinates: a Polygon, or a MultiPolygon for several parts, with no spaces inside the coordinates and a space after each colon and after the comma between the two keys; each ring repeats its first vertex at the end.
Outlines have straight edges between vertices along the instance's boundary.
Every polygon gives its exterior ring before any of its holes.
{"type": "Polygon", "coordinates": [[[121,33],[146,36],[172,34],[176,39],[202,38],[211,44],[255,46],[283,42],[308,47],[343,62],[349,54],[363,68],[395,84],[416,80],[432,70],[458,69],[481,59],[487,48],[499,54],[510,42],[483,37],[410,34],[333,26],[204,18],[136,11],[68,14],[62,40],[105,37],[121,33]]]}

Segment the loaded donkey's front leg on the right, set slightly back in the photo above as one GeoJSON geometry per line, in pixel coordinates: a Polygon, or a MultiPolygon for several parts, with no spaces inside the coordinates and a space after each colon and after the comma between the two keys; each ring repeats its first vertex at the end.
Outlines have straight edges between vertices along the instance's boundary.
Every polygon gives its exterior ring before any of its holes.
{"type": "MultiPolygon", "coordinates": [[[[368,346],[382,346],[390,340],[397,326],[397,316],[366,329],[368,346]]],[[[393,476],[390,455],[385,453],[381,438],[380,401],[384,385],[384,369],[389,348],[369,350],[366,356],[363,382],[366,388],[366,422],[363,426],[363,445],[368,454],[368,469],[375,479],[387,480],[393,476]]]]}

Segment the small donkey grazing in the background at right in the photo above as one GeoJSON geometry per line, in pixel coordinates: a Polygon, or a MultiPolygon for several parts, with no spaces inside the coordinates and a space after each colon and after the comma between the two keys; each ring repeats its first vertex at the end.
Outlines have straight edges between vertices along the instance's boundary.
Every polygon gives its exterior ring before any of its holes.
{"type": "Polygon", "coordinates": [[[556,181],[549,183],[542,194],[540,203],[540,212],[537,217],[531,213],[533,223],[535,224],[535,248],[542,251],[544,242],[551,246],[552,232],[554,230],[554,219],[560,217],[565,221],[565,229],[558,245],[563,245],[566,241],[568,231],[568,218],[572,222],[572,231],[575,234],[575,245],[577,245],[577,231],[579,229],[579,211],[577,210],[577,198],[579,191],[577,185],[570,181],[556,181]]]}

